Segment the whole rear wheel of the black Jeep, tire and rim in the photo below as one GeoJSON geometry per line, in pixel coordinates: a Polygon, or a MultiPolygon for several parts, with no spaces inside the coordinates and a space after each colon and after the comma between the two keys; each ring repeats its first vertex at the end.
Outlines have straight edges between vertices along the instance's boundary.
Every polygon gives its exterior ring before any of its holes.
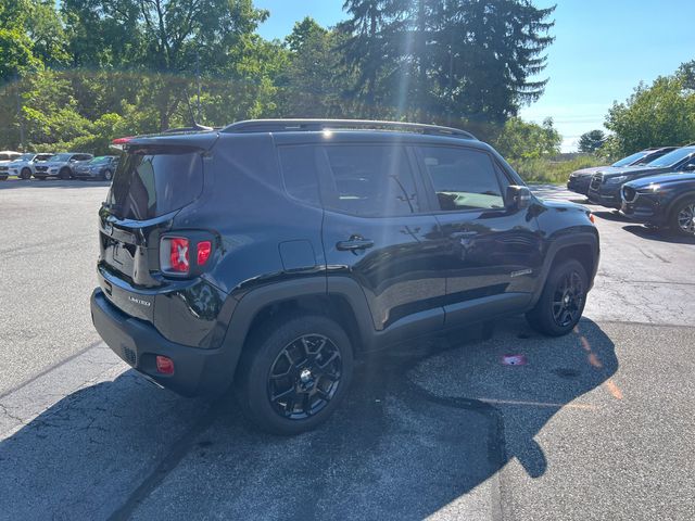
{"type": "Polygon", "coordinates": [[[252,332],[236,378],[239,403],[260,429],[294,435],[338,407],[353,372],[350,339],[333,320],[295,316],[252,332]]]}

